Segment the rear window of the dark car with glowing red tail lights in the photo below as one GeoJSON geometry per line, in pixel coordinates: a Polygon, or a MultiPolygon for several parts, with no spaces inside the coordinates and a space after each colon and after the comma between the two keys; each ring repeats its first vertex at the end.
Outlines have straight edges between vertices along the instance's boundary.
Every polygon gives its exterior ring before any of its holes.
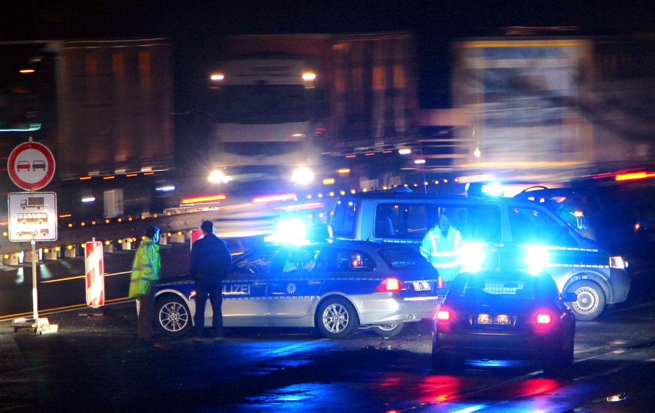
{"type": "Polygon", "coordinates": [[[555,281],[550,277],[532,277],[527,274],[460,275],[453,281],[449,295],[467,300],[557,300],[555,281]]]}

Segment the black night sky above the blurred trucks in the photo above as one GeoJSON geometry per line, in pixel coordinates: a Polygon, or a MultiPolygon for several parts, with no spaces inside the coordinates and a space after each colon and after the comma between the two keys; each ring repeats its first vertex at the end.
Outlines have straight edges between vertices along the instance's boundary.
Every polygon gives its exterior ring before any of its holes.
{"type": "Polygon", "coordinates": [[[567,34],[655,32],[655,1],[39,1],[0,10],[0,40],[167,37],[176,110],[193,102],[221,36],[240,33],[411,31],[421,106],[447,107],[449,41],[508,26],[574,26],[567,34]]]}

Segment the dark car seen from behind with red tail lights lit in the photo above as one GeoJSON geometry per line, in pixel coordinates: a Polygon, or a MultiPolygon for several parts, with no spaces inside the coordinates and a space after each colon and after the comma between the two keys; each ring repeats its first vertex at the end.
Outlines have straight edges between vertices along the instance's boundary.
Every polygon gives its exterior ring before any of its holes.
{"type": "Polygon", "coordinates": [[[573,363],[575,317],[550,275],[523,271],[460,273],[438,306],[432,368],[457,372],[465,359],[533,360],[548,375],[573,363]]]}

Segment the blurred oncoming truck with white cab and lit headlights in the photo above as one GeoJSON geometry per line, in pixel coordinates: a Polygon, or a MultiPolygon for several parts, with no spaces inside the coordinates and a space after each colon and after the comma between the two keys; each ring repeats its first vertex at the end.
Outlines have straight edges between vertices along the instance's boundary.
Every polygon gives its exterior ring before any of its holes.
{"type": "Polygon", "coordinates": [[[209,80],[217,182],[301,184],[334,172],[325,155],[382,153],[417,134],[409,33],[238,35],[222,46],[209,80]]]}

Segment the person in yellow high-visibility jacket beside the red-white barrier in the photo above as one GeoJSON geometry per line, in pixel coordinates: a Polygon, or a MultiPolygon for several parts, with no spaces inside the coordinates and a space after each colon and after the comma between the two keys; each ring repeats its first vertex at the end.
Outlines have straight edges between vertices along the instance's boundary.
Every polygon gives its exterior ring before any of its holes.
{"type": "Polygon", "coordinates": [[[153,341],[155,317],[155,285],[159,280],[161,258],[159,256],[159,228],[145,229],[145,239],[134,254],[130,277],[130,298],[136,298],[137,333],[141,342],[153,341]]]}

